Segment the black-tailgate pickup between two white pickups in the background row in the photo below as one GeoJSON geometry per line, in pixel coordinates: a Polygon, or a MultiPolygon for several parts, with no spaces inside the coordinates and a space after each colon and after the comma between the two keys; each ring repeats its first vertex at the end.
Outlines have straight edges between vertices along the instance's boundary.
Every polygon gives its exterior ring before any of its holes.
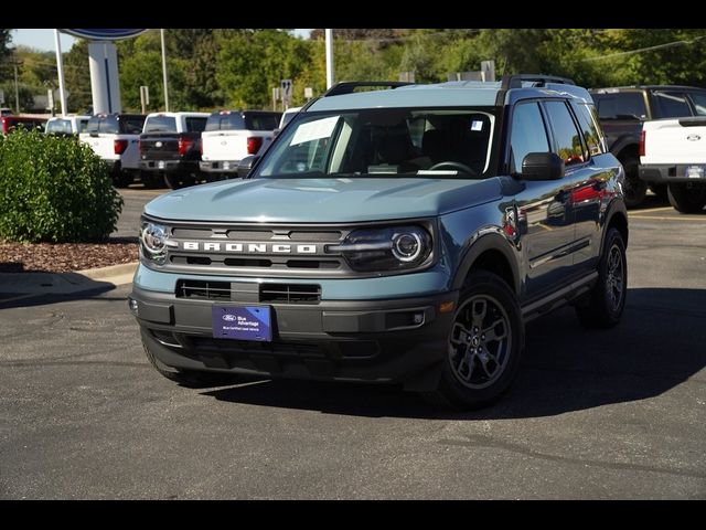
{"type": "Polygon", "coordinates": [[[140,135],[140,169],[150,186],[192,186],[201,179],[201,132],[208,113],[152,113],[140,135]]]}

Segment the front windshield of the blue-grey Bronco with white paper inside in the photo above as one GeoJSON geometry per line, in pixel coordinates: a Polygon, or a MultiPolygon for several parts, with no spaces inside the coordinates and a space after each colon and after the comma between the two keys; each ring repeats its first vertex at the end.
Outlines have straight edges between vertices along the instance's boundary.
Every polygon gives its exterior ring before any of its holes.
{"type": "Polygon", "coordinates": [[[254,177],[480,177],[490,169],[495,112],[446,107],[300,114],[254,177]]]}

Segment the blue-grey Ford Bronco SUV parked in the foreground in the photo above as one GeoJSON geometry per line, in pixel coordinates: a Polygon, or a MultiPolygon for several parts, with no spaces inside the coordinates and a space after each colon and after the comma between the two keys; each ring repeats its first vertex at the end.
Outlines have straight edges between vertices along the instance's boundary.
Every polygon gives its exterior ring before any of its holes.
{"type": "Polygon", "coordinates": [[[526,321],[571,304],[618,324],[624,176],[586,89],[360,85],[310,102],[247,177],[147,204],[128,303],[158,372],[403,383],[472,409],[516,375],[526,321]]]}

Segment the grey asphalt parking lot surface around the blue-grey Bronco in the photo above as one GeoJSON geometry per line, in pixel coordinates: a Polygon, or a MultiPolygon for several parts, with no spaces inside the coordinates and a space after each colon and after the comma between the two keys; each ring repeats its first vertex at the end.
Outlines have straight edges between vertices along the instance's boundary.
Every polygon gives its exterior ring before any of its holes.
{"type": "MultiPolygon", "coordinates": [[[[118,235],[163,191],[125,191],[118,235]]],[[[475,413],[386,386],[178,386],[127,285],[0,305],[0,498],[704,499],[706,212],[651,198],[630,229],[621,325],[530,324],[511,393],[475,413]]]]}

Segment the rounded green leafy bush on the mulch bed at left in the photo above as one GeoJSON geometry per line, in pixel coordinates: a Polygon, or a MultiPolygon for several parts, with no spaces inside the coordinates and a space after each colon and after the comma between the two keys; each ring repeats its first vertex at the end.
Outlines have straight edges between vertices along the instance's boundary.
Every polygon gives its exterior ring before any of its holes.
{"type": "Polygon", "coordinates": [[[0,237],[104,241],[121,210],[107,166],[88,146],[39,130],[0,136],[0,237]]]}

